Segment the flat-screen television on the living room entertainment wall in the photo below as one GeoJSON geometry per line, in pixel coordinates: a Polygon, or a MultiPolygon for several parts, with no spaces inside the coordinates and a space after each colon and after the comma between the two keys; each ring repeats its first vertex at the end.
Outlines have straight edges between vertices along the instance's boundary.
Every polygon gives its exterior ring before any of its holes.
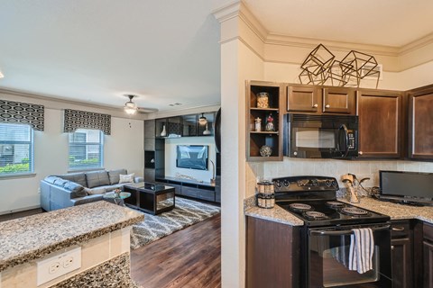
{"type": "Polygon", "coordinates": [[[177,145],[176,166],[178,168],[207,170],[207,145],[177,145]]]}

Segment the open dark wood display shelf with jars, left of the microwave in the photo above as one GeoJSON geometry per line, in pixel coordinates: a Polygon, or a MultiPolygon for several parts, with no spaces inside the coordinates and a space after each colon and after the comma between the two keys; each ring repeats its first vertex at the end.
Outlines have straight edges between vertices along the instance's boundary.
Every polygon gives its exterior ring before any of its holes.
{"type": "Polygon", "coordinates": [[[246,83],[246,157],[248,161],[281,161],[282,160],[282,114],[284,86],[279,83],[247,81],[246,83]],[[268,108],[257,107],[257,95],[268,93],[268,108]],[[266,131],[269,115],[273,118],[273,131],[266,131]],[[262,120],[261,130],[255,130],[255,119],[262,120]],[[260,154],[264,145],[272,148],[269,157],[260,154]]]}

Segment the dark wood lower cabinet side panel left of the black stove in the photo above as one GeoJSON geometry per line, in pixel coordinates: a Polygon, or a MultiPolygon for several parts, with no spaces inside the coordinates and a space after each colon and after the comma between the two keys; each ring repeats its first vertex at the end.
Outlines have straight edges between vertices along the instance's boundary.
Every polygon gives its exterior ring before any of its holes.
{"type": "Polygon", "coordinates": [[[246,287],[299,287],[299,228],[246,217],[246,287]]]}

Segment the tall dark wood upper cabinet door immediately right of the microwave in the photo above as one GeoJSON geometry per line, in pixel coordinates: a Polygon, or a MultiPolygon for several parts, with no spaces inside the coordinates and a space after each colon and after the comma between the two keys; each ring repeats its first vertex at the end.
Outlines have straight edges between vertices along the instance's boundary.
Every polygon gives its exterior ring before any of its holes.
{"type": "Polygon", "coordinates": [[[401,92],[360,90],[357,102],[359,157],[401,157],[401,92]]]}

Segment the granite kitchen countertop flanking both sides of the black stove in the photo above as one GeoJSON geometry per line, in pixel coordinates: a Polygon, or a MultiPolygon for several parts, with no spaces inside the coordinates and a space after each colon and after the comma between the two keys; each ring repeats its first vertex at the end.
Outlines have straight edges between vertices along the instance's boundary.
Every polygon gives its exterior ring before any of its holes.
{"type": "MultiPolygon", "coordinates": [[[[347,202],[344,198],[338,198],[341,202],[347,202]]],[[[263,220],[272,220],[291,226],[302,226],[304,221],[291,214],[289,211],[285,211],[280,206],[275,205],[272,209],[263,209],[251,204],[251,199],[245,201],[244,215],[263,220]]],[[[351,203],[354,206],[358,206],[364,209],[382,213],[391,217],[391,220],[403,220],[403,219],[418,219],[433,224],[433,207],[424,206],[410,206],[397,204],[392,202],[383,202],[375,200],[373,198],[361,198],[359,203],[351,203]]]]}

